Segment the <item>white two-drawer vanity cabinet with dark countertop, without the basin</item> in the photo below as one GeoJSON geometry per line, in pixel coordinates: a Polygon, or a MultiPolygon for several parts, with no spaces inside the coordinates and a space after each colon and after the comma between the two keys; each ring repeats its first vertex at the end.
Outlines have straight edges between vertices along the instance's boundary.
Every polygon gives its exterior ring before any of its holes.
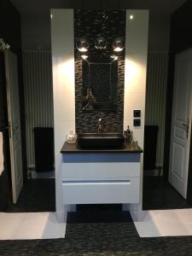
{"type": "Polygon", "coordinates": [[[136,143],[123,148],[61,148],[61,201],[70,204],[139,203],[140,155],[136,143]]]}

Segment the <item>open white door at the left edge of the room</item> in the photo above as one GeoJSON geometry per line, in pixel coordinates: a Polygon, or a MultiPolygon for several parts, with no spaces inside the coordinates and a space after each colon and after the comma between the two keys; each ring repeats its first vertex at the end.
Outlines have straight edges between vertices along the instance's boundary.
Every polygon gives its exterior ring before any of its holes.
{"type": "Polygon", "coordinates": [[[9,115],[9,146],[11,161],[11,181],[13,203],[17,202],[23,186],[22,148],[20,133],[20,94],[18,80],[17,56],[5,51],[5,71],[7,83],[8,115],[9,115]]]}

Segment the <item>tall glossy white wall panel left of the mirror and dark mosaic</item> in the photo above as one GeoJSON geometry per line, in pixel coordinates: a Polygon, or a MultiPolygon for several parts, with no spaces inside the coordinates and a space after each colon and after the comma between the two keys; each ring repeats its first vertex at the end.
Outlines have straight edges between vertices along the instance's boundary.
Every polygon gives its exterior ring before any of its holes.
{"type": "Polygon", "coordinates": [[[51,10],[51,44],[54,93],[56,212],[62,220],[61,148],[69,131],[75,131],[75,79],[73,10],[51,10]]]}

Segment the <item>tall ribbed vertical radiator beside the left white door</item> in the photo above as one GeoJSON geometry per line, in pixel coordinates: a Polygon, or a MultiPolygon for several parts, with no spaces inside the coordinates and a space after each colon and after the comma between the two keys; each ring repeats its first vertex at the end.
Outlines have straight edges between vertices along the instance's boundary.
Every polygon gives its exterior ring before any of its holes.
{"type": "Polygon", "coordinates": [[[24,50],[27,166],[35,166],[34,127],[53,127],[53,86],[49,50],[24,50]]]}

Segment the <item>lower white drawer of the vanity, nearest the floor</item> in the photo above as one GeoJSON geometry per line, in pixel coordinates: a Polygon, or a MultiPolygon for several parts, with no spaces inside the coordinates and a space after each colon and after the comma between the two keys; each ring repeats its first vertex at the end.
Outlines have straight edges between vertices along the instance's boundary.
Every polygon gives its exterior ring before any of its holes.
{"type": "Polygon", "coordinates": [[[62,182],[64,204],[138,203],[139,177],[124,181],[62,182]]]}

